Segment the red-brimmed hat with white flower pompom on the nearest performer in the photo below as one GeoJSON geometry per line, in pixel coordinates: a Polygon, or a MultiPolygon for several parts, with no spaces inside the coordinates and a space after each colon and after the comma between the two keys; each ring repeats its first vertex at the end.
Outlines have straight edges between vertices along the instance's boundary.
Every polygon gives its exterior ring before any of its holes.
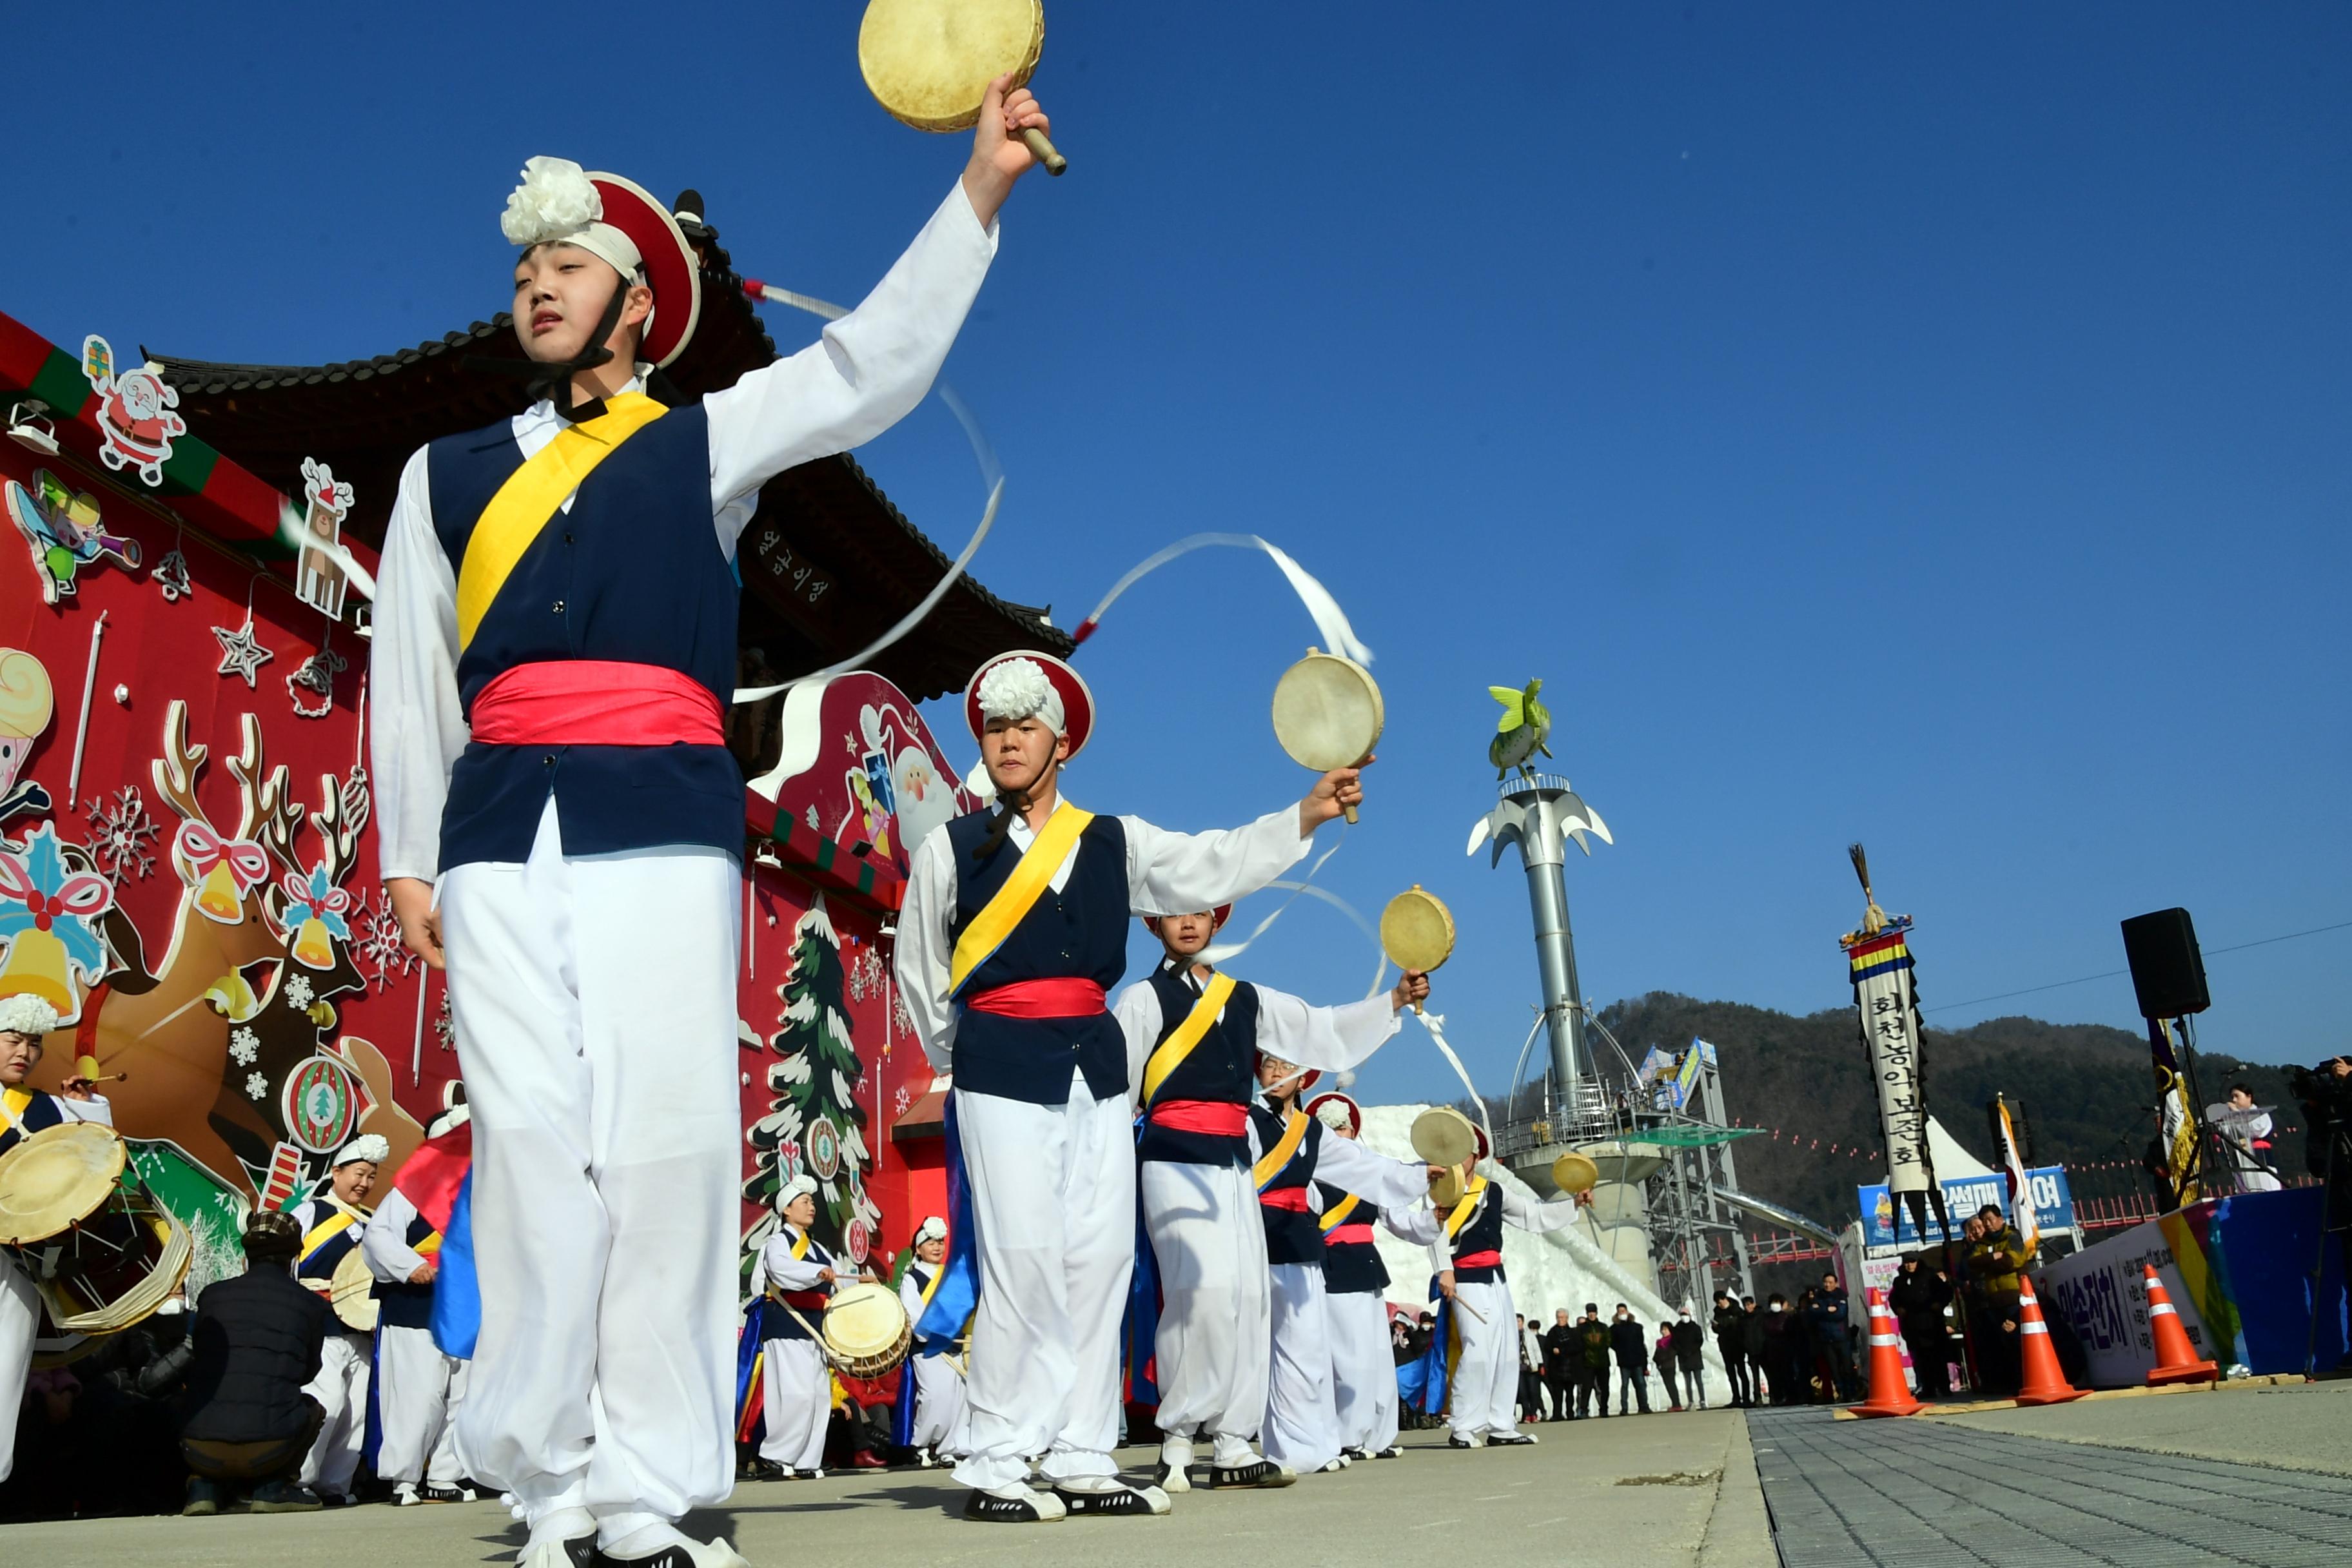
{"type": "Polygon", "coordinates": [[[619,174],[581,169],[569,158],[534,158],[499,216],[506,237],[534,244],[576,244],[614,266],[621,277],[644,277],[654,315],[637,355],[670,364],[687,350],[703,315],[703,273],[687,230],[644,186],[619,174]]]}

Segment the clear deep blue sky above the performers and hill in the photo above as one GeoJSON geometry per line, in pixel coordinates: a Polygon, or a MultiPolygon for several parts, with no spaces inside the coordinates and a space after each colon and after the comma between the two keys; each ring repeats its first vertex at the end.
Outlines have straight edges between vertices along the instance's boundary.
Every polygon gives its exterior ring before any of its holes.
{"type": "MultiPolygon", "coordinates": [[[[873,106],[847,0],[233,14],[12,19],[49,134],[0,308],[221,360],[416,343],[503,303],[532,153],[699,186],[746,273],[854,299],[964,155],[873,106]]],[[[1463,858],[1489,682],[1548,679],[1616,830],[1569,867],[1595,999],[1842,1006],[1849,839],[1929,1006],[2119,969],[2117,919],[2173,903],[2206,947],[2352,919],[2352,12],[1049,21],[1070,174],[1014,197],[948,367],[1011,475],[976,574],[1065,625],[1197,529],[1324,576],[1390,708],[1324,882],[1454,905],[1486,1088],[1536,994],[1519,875],[1463,858]]],[[[962,541],[936,404],[866,458],[962,541]]],[[[1181,827],[1294,795],[1265,698],[1310,639],[1263,562],[1148,581],[1082,654],[1073,795],[1181,827]]],[[[2216,957],[2204,1041],[2352,1044],[2347,959],[2216,957]]],[[[1301,907],[1242,971],[1350,994],[1369,947],[1301,907]]],[[[1931,1020],[1999,1011],[2133,1025],[2122,978],[1931,1020]]],[[[1444,1077],[1409,1030],[1364,1091],[1444,1077]]]]}

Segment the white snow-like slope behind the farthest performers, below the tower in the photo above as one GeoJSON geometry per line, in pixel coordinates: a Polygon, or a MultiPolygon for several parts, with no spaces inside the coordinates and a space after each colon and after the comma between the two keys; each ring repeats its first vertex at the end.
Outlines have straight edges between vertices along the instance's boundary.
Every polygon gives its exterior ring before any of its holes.
{"type": "MultiPolygon", "coordinates": [[[[1414,1159],[1414,1117],[1425,1110],[1428,1105],[1367,1105],[1364,1147],[1392,1159],[1414,1159]]],[[[1538,1201],[1526,1182],[1496,1161],[1486,1161],[1479,1173],[1529,1201],[1538,1201]]],[[[1388,1265],[1388,1300],[1414,1312],[1428,1309],[1430,1251],[1411,1246],[1409,1241],[1397,1241],[1388,1234],[1385,1225],[1376,1225],[1374,1237],[1378,1237],[1381,1244],[1381,1262],[1388,1265]]],[[[1510,1281],[1515,1309],[1536,1319],[1541,1328],[1552,1326],[1552,1312],[1559,1307],[1566,1307],[1569,1316],[1581,1319],[1585,1302],[1597,1302],[1602,1321],[1609,1321],[1616,1305],[1625,1302],[1632,1307],[1632,1314],[1642,1319],[1644,1335],[1656,1342],[1658,1324],[1672,1321],[1675,1305],[1682,1305],[1661,1300],[1656,1291],[1618,1267],[1618,1262],[1595,1244],[1590,1218],[1545,1237],[1505,1225],[1503,1276],[1510,1281]]],[[[1705,1300],[1689,1302],[1689,1307],[1691,1316],[1698,1319],[1700,1328],[1705,1328],[1708,1314],[1715,1309],[1712,1291],[1705,1300]]],[[[1715,1335],[1710,1333],[1708,1403],[1724,1403],[1726,1399],[1731,1399],[1731,1385],[1724,1375],[1722,1356],[1715,1354],[1715,1335]]]]}

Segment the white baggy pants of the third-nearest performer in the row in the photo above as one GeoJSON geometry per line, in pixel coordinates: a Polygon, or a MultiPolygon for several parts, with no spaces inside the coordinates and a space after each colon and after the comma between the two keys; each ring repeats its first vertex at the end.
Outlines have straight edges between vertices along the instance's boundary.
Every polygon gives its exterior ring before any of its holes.
{"type": "Polygon", "coordinates": [[[1143,1161],[1136,1180],[1160,1265],[1160,1432],[1207,1432],[1216,1465],[1247,1465],[1272,1356],[1258,1187],[1240,1166],[1160,1159],[1143,1161]]]}

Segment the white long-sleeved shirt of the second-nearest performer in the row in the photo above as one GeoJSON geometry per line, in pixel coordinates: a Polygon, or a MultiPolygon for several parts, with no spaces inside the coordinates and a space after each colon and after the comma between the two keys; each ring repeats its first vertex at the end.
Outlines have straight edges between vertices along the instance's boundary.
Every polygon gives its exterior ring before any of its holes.
{"type": "MultiPolygon", "coordinates": [[[[1298,832],[1298,806],[1268,811],[1247,827],[1221,832],[1167,832],[1141,816],[1122,816],[1127,830],[1127,903],[1134,914],[1192,914],[1232,903],[1298,865],[1312,842],[1298,832]]],[[[1025,818],[1011,823],[1011,846],[1028,853],[1037,839],[1025,818]]],[[[1077,844],[1049,879],[1058,893],[1070,884],[1077,844]]],[[[948,1001],[955,959],[955,849],[946,827],[934,827],[908,865],[906,905],[898,910],[898,952],[891,973],[908,1018],[936,1072],[955,1065],[957,1009],[948,1001]]],[[[1134,1077],[1134,1074],[1129,1074],[1134,1077]]]]}

